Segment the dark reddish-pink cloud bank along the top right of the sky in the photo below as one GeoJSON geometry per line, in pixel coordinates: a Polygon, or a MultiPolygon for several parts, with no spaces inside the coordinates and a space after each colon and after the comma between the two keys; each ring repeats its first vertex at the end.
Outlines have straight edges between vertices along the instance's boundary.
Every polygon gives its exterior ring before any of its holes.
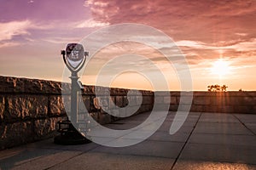
{"type": "MultiPolygon", "coordinates": [[[[154,26],[176,41],[236,39],[237,32],[254,35],[256,2],[242,1],[109,1],[90,0],[94,20],[110,24],[136,22],[154,26]]],[[[241,35],[240,35],[241,36],[241,35]]]]}

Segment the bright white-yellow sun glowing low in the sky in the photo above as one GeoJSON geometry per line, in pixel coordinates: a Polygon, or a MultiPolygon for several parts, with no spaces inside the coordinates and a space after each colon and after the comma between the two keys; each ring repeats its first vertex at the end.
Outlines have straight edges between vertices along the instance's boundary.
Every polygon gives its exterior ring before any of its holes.
{"type": "Polygon", "coordinates": [[[223,77],[230,73],[230,62],[223,59],[218,59],[212,64],[212,74],[223,77]]]}

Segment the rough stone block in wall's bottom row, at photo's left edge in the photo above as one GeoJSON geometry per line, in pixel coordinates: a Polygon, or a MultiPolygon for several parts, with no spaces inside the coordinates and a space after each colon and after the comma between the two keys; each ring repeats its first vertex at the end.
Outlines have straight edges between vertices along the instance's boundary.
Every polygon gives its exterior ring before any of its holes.
{"type": "Polygon", "coordinates": [[[0,149],[33,141],[32,122],[15,122],[0,126],[0,149]]]}

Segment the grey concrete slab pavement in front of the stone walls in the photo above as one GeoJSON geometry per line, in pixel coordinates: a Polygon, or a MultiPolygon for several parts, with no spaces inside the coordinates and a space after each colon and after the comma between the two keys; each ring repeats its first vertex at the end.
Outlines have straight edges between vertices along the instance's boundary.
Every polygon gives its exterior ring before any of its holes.
{"type": "MultiPolygon", "coordinates": [[[[149,113],[106,127],[128,129],[149,113]]],[[[256,169],[256,115],[190,112],[169,134],[175,112],[151,137],[132,146],[57,145],[53,139],[0,151],[1,169],[256,169]]]]}

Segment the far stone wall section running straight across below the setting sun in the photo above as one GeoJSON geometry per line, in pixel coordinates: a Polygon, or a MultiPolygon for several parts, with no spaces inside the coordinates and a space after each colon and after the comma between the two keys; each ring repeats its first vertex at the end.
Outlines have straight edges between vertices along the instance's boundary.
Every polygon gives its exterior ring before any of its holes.
{"type": "MultiPolygon", "coordinates": [[[[180,92],[170,92],[171,105],[170,111],[177,111],[180,100],[180,92]]],[[[183,105],[186,103],[186,95],[184,94],[184,103],[180,104],[182,111],[183,105]]],[[[220,112],[220,113],[256,113],[256,92],[193,92],[193,100],[190,111],[199,112],[220,112]]]]}

